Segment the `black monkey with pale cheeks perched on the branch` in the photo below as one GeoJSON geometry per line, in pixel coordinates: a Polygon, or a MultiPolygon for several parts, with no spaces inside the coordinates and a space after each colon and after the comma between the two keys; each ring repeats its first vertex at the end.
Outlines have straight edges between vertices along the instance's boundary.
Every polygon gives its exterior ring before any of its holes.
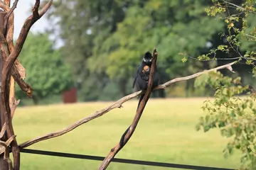
{"type": "MultiPolygon", "coordinates": [[[[149,83],[149,73],[151,69],[153,56],[150,52],[146,52],[144,57],[142,58],[142,63],[139,65],[137,69],[137,75],[134,77],[134,82],[132,84],[132,88],[134,88],[135,84],[137,84],[137,89],[146,90],[149,83]]],[[[153,84],[152,89],[159,85],[159,74],[157,72],[157,67],[155,68],[155,72],[153,75],[153,84]]]]}

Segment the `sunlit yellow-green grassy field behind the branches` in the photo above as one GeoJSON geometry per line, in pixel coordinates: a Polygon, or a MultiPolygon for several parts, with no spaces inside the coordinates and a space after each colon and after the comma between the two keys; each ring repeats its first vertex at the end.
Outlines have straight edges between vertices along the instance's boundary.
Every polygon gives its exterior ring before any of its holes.
{"type": "MultiPolygon", "coordinates": [[[[117,158],[146,161],[238,168],[240,155],[223,158],[227,138],[218,130],[197,132],[195,125],[203,115],[203,98],[149,99],[137,130],[117,158]]],[[[75,120],[86,117],[110,103],[77,103],[70,105],[18,108],[14,115],[14,130],[18,143],[48,132],[61,130],[75,120]]],[[[66,135],[38,142],[30,149],[89,154],[105,157],[119,142],[134,118],[137,101],[124,103],[66,135]]],[[[21,169],[97,169],[101,162],[21,153],[21,169]]],[[[152,166],[111,163],[109,170],[166,169],[152,166]]]]}

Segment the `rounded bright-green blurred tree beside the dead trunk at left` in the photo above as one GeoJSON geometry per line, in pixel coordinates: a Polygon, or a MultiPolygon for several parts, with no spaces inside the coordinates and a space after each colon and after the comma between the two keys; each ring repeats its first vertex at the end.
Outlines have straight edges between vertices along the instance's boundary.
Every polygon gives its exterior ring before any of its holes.
{"type": "MultiPolygon", "coordinates": [[[[26,80],[33,86],[33,102],[60,94],[73,86],[70,67],[61,56],[60,50],[53,49],[53,42],[47,33],[29,33],[21,51],[20,60],[26,67],[26,80]]],[[[16,88],[18,98],[25,98],[16,88]]]]}

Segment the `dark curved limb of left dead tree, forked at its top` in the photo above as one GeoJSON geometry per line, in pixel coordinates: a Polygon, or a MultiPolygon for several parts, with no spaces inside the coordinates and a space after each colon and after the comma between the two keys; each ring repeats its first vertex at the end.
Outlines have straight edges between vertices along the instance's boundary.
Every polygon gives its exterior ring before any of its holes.
{"type": "MultiPolygon", "coordinates": [[[[46,11],[48,11],[48,8],[50,8],[52,2],[52,0],[49,1],[48,4],[43,7],[42,11],[38,13],[40,1],[36,0],[35,5],[33,6],[33,14],[26,19],[23,27],[21,28],[21,33],[18,36],[18,40],[16,42],[14,50],[11,51],[11,54],[9,55],[9,57],[6,58],[6,61],[4,62],[1,82],[1,106],[3,108],[4,119],[6,121],[7,137],[11,137],[14,135],[14,128],[11,121],[11,108],[9,106],[9,83],[11,79],[11,69],[14,66],[15,60],[17,59],[18,55],[22,50],[23,44],[26,40],[28,31],[30,30],[31,26],[33,26],[33,23],[38,21],[38,19],[41,18],[41,16],[43,16],[46,11]]],[[[2,35],[2,33],[1,38],[4,38],[4,35],[2,35]]],[[[3,39],[1,39],[1,41],[3,41],[3,39]]],[[[1,47],[3,47],[3,44],[4,43],[1,43],[1,47]]],[[[2,54],[4,53],[6,52],[2,51],[2,54]]],[[[11,142],[11,152],[13,153],[14,157],[14,170],[18,170],[20,167],[20,152],[16,139],[11,142]]]]}

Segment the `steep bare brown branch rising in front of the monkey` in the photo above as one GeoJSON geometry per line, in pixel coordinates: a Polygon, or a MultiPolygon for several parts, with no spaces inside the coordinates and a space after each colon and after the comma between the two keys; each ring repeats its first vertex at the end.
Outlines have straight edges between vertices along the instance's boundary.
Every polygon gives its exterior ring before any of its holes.
{"type": "Polygon", "coordinates": [[[107,169],[107,166],[110,164],[110,162],[112,161],[114,156],[119,152],[119,150],[122,149],[122,147],[124,147],[124,145],[127,144],[130,137],[132,137],[132,134],[134,133],[134,131],[139,123],[139,118],[142,116],[142,113],[144,111],[146,103],[149,100],[149,97],[151,94],[151,88],[152,88],[152,84],[153,84],[153,75],[154,75],[154,70],[156,67],[156,60],[157,60],[157,53],[156,53],[156,49],[154,49],[153,60],[152,60],[150,74],[149,74],[148,88],[146,89],[146,93],[141,96],[142,100],[139,100],[139,106],[138,106],[136,115],[134,117],[134,120],[132,121],[132,125],[130,125],[129,128],[127,129],[127,131],[124,132],[124,135],[121,137],[121,141],[115,147],[113,147],[110,150],[110,153],[107,155],[107,157],[105,157],[105,159],[103,160],[103,162],[99,168],[100,170],[107,169]]]}

